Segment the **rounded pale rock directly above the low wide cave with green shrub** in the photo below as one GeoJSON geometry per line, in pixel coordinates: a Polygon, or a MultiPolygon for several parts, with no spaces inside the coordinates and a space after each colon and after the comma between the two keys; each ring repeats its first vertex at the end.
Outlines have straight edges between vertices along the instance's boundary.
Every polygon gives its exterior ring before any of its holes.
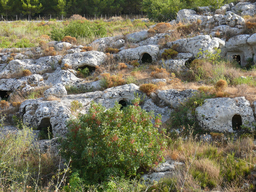
{"type": "Polygon", "coordinates": [[[63,56],[61,66],[68,64],[73,69],[88,66],[98,66],[105,61],[106,55],[99,51],[86,51],[81,53],[67,54],[63,56]]]}

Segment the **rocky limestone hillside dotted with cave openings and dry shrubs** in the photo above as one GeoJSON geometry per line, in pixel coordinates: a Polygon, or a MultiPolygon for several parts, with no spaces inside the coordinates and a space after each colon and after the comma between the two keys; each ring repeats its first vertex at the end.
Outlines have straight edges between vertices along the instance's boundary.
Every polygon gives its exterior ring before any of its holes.
{"type": "MultiPolygon", "coordinates": [[[[204,134],[254,129],[255,12],[251,2],[183,9],[169,23],[86,46],[67,37],[45,47],[0,49],[1,130],[18,132],[20,119],[34,128],[41,149],[51,144],[57,154],[67,120],[87,114],[93,101],[106,109],[115,102],[126,107],[136,95],[144,98],[142,109],[161,115],[170,133],[195,123],[204,134]],[[180,115],[182,108],[187,111],[180,115]],[[184,116],[192,123],[173,121],[184,116]],[[40,133],[47,128],[51,140],[40,133]]],[[[155,170],[160,174],[143,177],[159,180],[174,164],[168,160],[155,170]]]]}

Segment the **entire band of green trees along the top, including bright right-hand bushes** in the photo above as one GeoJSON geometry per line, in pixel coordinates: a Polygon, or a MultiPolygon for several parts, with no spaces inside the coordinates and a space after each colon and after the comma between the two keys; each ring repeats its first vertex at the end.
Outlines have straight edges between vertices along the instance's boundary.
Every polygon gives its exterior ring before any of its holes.
{"type": "Polygon", "coordinates": [[[231,0],[0,0],[2,15],[148,14],[163,21],[173,19],[178,10],[197,6],[218,7],[231,0]]]}

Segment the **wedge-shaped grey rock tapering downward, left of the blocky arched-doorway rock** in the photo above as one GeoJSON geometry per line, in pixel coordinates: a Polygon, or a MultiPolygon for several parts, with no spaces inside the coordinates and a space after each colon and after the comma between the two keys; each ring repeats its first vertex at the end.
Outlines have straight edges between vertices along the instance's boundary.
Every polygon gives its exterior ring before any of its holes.
{"type": "Polygon", "coordinates": [[[198,91],[194,89],[186,89],[183,91],[178,91],[176,89],[156,91],[158,97],[173,108],[177,108],[180,103],[185,102],[188,98],[193,97],[196,92],[198,91]]]}

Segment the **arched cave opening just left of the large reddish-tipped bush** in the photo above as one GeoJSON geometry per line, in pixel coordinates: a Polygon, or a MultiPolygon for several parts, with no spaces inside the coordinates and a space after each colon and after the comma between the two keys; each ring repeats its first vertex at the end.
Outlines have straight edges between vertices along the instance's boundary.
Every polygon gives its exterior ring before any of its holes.
{"type": "Polygon", "coordinates": [[[40,125],[38,126],[37,130],[40,130],[39,136],[38,136],[39,140],[53,138],[50,118],[43,118],[41,120],[40,125]]]}

